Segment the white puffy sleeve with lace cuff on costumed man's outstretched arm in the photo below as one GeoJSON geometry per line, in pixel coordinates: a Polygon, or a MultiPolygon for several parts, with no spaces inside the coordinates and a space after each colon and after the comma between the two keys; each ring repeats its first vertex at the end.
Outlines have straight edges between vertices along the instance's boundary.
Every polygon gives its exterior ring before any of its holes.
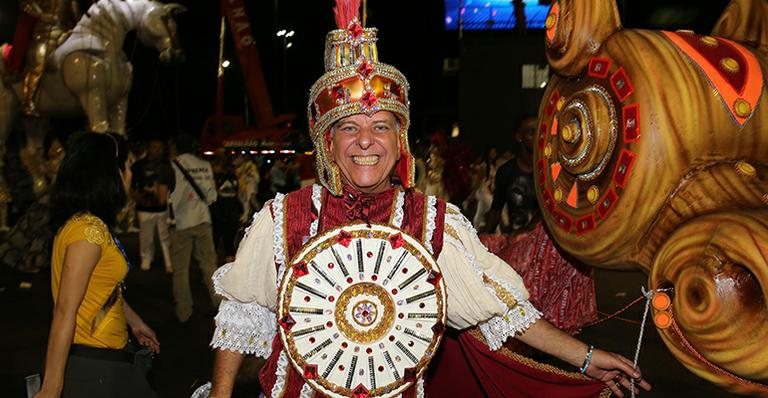
{"type": "Polygon", "coordinates": [[[448,325],[479,326],[492,350],[541,318],[520,275],[483,246],[469,220],[450,204],[437,263],[447,288],[448,325]]]}

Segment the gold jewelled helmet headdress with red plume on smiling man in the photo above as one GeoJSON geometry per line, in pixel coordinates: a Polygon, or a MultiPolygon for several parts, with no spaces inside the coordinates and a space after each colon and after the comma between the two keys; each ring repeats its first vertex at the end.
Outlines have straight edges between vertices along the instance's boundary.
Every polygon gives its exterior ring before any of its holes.
{"type": "Polygon", "coordinates": [[[400,159],[395,165],[403,187],[414,184],[414,162],[408,148],[408,81],[394,67],[379,62],[376,28],[364,28],[358,18],[360,0],[336,0],[338,29],[325,39],[325,74],[309,94],[307,119],[315,145],[317,176],[334,195],[341,194],[341,174],[329,157],[330,128],[359,113],[390,111],[400,121],[400,159]]]}

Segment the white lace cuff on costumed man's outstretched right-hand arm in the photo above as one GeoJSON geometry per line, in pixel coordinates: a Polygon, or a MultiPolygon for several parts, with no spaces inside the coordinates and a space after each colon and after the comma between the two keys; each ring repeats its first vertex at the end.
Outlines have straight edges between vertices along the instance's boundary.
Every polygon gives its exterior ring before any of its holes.
{"type": "Polygon", "coordinates": [[[507,309],[504,315],[495,316],[480,324],[480,332],[483,333],[488,347],[492,351],[501,348],[501,345],[510,336],[523,333],[539,318],[541,312],[528,300],[520,300],[513,308],[507,309]]]}

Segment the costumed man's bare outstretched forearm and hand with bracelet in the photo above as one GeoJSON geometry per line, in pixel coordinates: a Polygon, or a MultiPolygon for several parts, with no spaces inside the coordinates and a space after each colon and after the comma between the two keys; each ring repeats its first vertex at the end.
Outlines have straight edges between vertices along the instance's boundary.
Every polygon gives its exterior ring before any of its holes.
{"type": "Polygon", "coordinates": [[[536,321],[517,338],[577,368],[583,367],[582,373],[605,382],[618,397],[624,396],[619,386],[629,389],[630,380],[634,380],[646,391],[651,389],[651,385],[642,379],[640,370],[635,368],[629,359],[612,352],[592,350],[588,345],[552,326],[543,318],[536,321]]]}

